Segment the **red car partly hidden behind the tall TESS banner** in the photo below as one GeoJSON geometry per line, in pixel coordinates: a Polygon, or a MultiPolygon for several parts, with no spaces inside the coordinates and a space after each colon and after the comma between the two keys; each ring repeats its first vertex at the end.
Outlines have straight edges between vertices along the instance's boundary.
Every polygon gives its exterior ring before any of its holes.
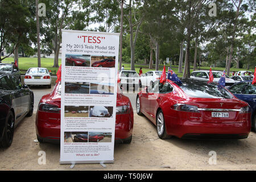
{"type": "MultiPolygon", "coordinates": [[[[60,91],[61,84],[57,82],[52,92],[39,102],[35,123],[39,142],[60,142],[60,91]]],[[[131,142],[133,122],[133,107],[129,98],[117,92],[115,142],[131,142]]]]}

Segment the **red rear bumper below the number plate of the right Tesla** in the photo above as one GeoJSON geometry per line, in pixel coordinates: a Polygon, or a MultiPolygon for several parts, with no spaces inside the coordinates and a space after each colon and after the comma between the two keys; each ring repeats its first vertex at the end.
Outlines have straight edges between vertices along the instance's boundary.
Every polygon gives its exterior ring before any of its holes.
{"type": "Polygon", "coordinates": [[[167,134],[179,138],[247,138],[251,130],[250,119],[247,122],[213,123],[164,118],[167,134]]]}

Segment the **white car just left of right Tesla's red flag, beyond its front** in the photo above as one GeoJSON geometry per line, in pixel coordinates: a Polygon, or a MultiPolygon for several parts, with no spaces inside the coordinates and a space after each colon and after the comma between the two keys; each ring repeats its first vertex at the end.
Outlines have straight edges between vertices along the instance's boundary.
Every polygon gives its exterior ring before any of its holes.
{"type": "MultiPolygon", "coordinates": [[[[155,82],[162,75],[162,71],[148,71],[143,73],[139,79],[142,86],[149,86],[152,82],[155,82]]],[[[167,74],[166,74],[167,76],[167,74]]]]}

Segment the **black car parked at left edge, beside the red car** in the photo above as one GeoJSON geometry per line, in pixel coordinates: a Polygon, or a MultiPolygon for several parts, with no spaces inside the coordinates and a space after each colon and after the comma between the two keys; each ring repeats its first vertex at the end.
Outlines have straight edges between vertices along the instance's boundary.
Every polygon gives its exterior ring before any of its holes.
{"type": "Polygon", "coordinates": [[[13,142],[14,128],[34,110],[34,94],[14,76],[0,75],[0,146],[13,142]]]}

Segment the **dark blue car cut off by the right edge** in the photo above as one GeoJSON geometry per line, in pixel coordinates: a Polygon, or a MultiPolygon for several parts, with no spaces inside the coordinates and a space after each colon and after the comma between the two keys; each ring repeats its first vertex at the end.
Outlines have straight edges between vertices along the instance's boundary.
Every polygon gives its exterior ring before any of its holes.
{"type": "Polygon", "coordinates": [[[228,88],[237,98],[247,102],[251,107],[251,126],[256,131],[256,85],[251,84],[252,81],[241,81],[228,88]]]}

